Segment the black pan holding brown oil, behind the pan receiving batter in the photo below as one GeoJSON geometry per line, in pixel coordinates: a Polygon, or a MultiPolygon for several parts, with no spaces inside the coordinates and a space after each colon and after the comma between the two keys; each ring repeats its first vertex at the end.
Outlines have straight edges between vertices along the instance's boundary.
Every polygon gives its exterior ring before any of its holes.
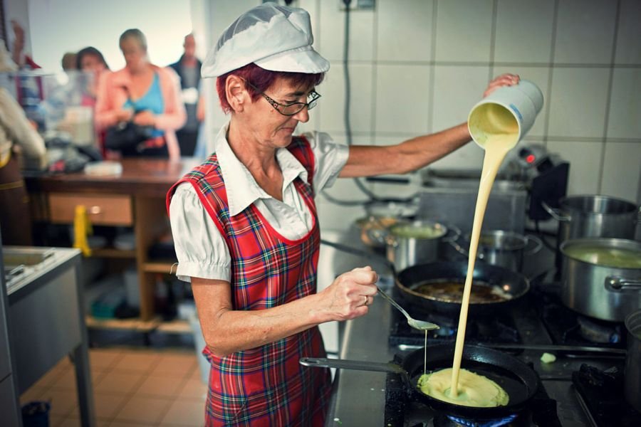
{"type": "MultiPolygon", "coordinates": [[[[417,307],[457,317],[461,311],[460,295],[467,276],[467,262],[437,262],[412,265],[396,273],[395,265],[380,255],[340,243],[321,240],[339,251],[383,262],[392,271],[395,285],[405,300],[417,307]]],[[[530,290],[528,279],[506,268],[478,262],[474,266],[471,316],[492,315],[508,307],[530,290]]]]}

